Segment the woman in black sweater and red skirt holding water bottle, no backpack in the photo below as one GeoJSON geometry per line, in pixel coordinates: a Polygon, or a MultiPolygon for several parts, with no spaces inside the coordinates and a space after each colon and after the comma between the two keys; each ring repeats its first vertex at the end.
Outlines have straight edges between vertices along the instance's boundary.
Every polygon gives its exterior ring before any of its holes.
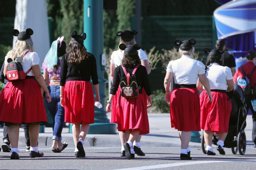
{"type": "Polygon", "coordinates": [[[86,34],[77,35],[73,31],[71,37],[70,50],[63,55],[60,68],[60,103],[65,107],[65,122],[73,123],[75,157],[83,158],[84,139],[89,124],[94,123],[94,102],[100,102],[99,82],[95,57],[84,47],[86,34]],[[96,92],[95,98],[91,78],[96,92]]]}

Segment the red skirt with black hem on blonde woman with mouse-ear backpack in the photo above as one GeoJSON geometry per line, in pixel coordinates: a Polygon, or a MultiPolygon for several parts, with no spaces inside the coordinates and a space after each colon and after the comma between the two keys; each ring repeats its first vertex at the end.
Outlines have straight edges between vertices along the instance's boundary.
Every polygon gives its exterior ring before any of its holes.
{"type": "Polygon", "coordinates": [[[8,82],[0,95],[0,122],[47,124],[40,86],[34,79],[8,82]]]}

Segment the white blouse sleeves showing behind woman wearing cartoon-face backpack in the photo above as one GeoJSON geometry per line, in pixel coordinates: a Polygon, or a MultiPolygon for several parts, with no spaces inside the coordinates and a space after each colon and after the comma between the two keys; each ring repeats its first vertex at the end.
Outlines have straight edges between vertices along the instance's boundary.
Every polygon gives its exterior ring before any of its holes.
{"type": "MultiPolygon", "coordinates": [[[[110,63],[115,64],[115,66],[117,67],[122,64],[123,57],[124,57],[124,50],[122,51],[116,50],[111,55],[110,63]]],[[[142,49],[139,49],[139,57],[140,57],[140,61],[148,60],[146,53],[142,49]]]]}

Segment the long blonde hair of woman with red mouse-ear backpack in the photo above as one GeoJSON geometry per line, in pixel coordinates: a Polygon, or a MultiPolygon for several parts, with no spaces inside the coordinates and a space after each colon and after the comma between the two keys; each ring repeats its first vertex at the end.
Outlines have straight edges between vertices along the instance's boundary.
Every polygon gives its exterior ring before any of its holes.
{"type": "Polygon", "coordinates": [[[23,57],[26,51],[35,51],[31,37],[24,41],[17,40],[15,47],[8,52],[7,58],[12,58],[12,60],[14,60],[15,57],[23,57]]]}

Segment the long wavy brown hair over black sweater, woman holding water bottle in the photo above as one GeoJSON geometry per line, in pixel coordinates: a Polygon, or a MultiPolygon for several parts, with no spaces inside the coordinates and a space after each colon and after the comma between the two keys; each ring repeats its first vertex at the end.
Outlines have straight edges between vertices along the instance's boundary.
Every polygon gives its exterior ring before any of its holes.
{"type": "Polygon", "coordinates": [[[71,65],[77,66],[89,58],[86,48],[84,47],[84,45],[80,44],[79,42],[70,40],[69,47],[70,47],[70,50],[69,50],[68,62],[71,65]]]}

